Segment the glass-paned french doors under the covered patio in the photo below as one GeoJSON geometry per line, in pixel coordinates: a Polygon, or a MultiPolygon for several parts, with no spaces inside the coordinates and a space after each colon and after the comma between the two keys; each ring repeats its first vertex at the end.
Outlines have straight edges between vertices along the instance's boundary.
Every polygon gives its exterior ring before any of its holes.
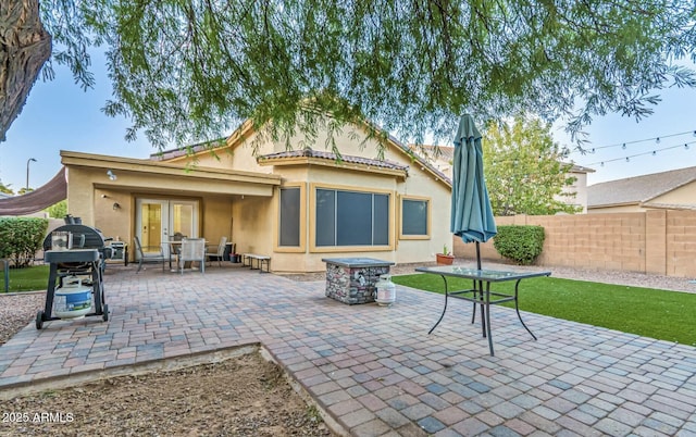
{"type": "Polygon", "coordinates": [[[149,251],[161,247],[169,257],[170,245],[166,242],[179,233],[186,237],[198,237],[198,201],[137,199],[136,200],[137,236],[149,251]]]}

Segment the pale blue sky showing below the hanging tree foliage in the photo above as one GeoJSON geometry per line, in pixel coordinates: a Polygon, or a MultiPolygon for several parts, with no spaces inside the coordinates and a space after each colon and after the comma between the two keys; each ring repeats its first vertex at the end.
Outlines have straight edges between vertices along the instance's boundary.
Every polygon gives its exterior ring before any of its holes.
{"type": "MultiPolygon", "coordinates": [[[[112,97],[104,64],[103,54],[92,53],[96,86],[87,91],[61,65],[53,80],[36,82],[7,140],[0,142],[2,184],[15,192],[25,187],[28,166],[29,187],[40,187],[60,171],[60,150],[141,159],[157,151],[142,134],[126,141],[129,122],[101,112],[112,97]]],[[[595,148],[595,153],[573,152],[569,161],[595,170],[588,185],[696,165],[696,89],[669,89],[660,96],[655,113],[639,123],[611,114],[596,117],[584,129],[591,141],[585,149],[595,148]]],[[[551,134],[561,146],[573,147],[562,123],[556,123],[551,134]]]]}

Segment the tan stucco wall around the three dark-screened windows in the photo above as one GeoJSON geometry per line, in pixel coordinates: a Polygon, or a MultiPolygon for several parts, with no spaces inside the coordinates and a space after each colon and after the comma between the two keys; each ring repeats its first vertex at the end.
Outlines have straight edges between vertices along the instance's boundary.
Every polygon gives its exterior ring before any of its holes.
{"type": "MultiPolygon", "coordinates": [[[[376,140],[368,140],[363,146],[360,141],[363,137],[357,139],[351,137],[352,134],[362,134],[362,130],[345,129],[343,134],[336,137],[336,142],[340,152],[345,155],[356,155],[369,159],[377,157],[376,140]]],[[[325,135],[314,141],[315,150],[325,150],[325,135]]],[[[259,165],[254,157],[251,155],[251,145],[256,143],[259,154],[269,154],[285,150],[283,141],[260,141],[254,135],[251,135],[246,142],[236,146],[234,150],[233,165],[236,168],[243,166],[245,170],[252,172],[272,172],[281,175],[283,184],[304,185],[306,193],[306,233],[303,241],[303,251],[276,251],[274,250],[274,241],[277,237],[277,195],[274,195],[270,201],[268,199],[245,199],[235,202],[233,207],[234,216],[234,240],[237,244],[237,252],[254,252],[263,254],[272,254],[271,269],[275,272],[319,272],[325,270],[325,264],[321,261],[323,258],[336,257],[358,257],[366,255],[372,258],[384,259],[397,263],[410,262],[430,262],[435,259],[435,253],[442,250],[443,245],[450,244],[451,234],[449,234],[449,202],[450,190],[436,177],[419,168],[410,168],[409,176],[406,180],[399,179],[394,175],[383,175],[365,173],[363,171],[350,170],[353,165],[346,164],[344,167],[333,167],[323,165],[259,165]],[[257,141],[257,142],[254,142],[257,141]],[[389,250],[374,250],[365,248],[361,251],[340,251],[337,249],[322,250],[311,249],[311,229],[313,228],[313,217],[310,213],[311,200],[313,196],[311,187],[313,184],[325,187],[344,187],[355,189],[371,189],[375,191],[386,190],[391,195],[393,213],[395,222],[391,226],[390,240],[393,242],[389,250]],[[398,212],[398,202],[400,196],[419,196],[426,197],[431,200],[432,213],[431,220],[431,238],[424,240],[398,240],[398,225],[400,224],[396,213],[398,212]],[[243,207],[244,204],[244,207],[243,207]]],[[[296,136],[290,141],[296,148],[303,143],[303,138],[296,136]]],[[[398,163],[400,165],[412,165],[409,157],[398,150],[387,149],[385,152],[386,160],[398,163]]],[[[210,155],[198,157],[201,164],[209,165],[210,155]]]]}

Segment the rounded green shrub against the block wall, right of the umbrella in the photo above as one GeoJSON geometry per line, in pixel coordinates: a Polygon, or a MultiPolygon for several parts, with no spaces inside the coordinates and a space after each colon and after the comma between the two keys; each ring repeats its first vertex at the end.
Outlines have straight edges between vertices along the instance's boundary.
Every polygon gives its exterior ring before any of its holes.
{"type": "Polygon", "coordinates": [[[530,265],[542,253],[545,237],[542,226],[498,226],[493,246],[501,257],[530,265]]]}

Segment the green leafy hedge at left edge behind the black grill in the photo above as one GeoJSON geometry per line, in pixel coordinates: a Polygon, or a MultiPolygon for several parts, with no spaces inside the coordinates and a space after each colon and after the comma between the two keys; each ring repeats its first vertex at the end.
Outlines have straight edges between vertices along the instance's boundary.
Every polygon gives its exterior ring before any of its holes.
{"type": "Polygon", "coordinates": [[[29,265],[47,229],[46,218],[0,217],[0,258],[10,259],[16,267],[29,265]]]}

